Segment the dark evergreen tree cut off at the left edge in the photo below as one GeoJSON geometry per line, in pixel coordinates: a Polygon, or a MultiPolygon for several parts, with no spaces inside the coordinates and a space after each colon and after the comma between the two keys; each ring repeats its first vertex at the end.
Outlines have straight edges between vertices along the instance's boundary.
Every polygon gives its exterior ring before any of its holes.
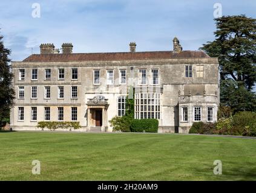
{"type": "Polygon", "coordinates": [[[4,48],[0,36],[0,127],[4,126],[6,120],[10,116],[10,108],[15,99],[15,90],[12,87],[11,81],[13,74],[10,69],[10,49],[4,48]]]}

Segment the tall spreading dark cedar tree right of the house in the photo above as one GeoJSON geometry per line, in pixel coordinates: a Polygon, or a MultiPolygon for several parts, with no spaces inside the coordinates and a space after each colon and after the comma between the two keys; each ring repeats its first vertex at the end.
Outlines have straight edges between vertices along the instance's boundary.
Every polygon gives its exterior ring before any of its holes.
{"type": "Polygon", "coordinates": [[[221,103],[231,106],[235,112],[255,111],[253,88],[256,81],[256,19],[240,15],[223,16],[215,21],[217,26],[214,32],[215,40],[203,44],[200,49],[211,57],[218,57],[221,103]],[[230,81],[230,78],[234,82],[230,81]],[[229,100],[230,98],[240,98],[240,100],[229,100]],[[254,104],[249,102],[241,106],[235,104],[242,99],[254,104]]]}

